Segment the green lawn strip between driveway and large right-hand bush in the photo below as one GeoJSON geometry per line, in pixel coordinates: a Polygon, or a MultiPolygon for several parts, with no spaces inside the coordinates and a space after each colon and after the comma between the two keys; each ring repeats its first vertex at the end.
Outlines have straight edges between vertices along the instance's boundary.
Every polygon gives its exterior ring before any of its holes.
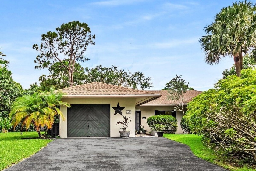
{"type": "Polygon", "coordinates": [[[164,134],[164,137],[188,145],[195,156],[225,169],[231,171],[256,171],[256,169],[251,169],[247,166],[237,167],[225,162],[225,156],[219,156],[212,149],[203,145],[201,136],[194,134],[164,134]]]}

